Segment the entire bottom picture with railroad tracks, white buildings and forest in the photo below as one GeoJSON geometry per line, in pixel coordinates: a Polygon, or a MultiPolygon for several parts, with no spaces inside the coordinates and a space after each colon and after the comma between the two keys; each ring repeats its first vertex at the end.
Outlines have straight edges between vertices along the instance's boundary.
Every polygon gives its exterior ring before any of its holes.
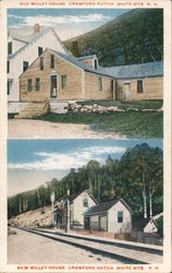
{"type": "Polygon", "coordinates": [[[162,140],[9,140],[9,264],[163,260],[162,140]]]}

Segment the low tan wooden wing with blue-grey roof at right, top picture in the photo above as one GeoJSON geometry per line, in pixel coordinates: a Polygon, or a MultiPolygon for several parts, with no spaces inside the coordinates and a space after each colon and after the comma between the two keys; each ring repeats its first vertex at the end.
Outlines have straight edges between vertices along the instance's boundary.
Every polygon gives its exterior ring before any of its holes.
{"type": "Polygon", "coordinates": [[[115,79],[115,99],[163,98],[163,61],[101,69],[115,79]]]}

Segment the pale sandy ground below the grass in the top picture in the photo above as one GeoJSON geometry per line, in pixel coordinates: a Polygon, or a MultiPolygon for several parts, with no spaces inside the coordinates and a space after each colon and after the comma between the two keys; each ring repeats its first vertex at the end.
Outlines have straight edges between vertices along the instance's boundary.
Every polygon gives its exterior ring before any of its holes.
{"type": "Polygon", "coordinates": [[[54,123],[41,120],[9,120],[9,139],[125,139],[113,132],[94,131],[87,124],[54,123]]]}

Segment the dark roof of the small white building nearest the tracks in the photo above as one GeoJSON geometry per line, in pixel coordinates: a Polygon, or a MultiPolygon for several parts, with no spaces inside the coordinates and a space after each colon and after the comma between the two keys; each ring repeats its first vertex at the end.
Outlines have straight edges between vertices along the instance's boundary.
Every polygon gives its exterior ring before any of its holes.
{"type": "Polygon", "coordinates": [[[131,207],[126,204],[126,202],[123,199],[120,200],[111,200],[108,202],[102,202],[100,204],[94,205],[91,206],[86,213],[85,215],[90,215],[90,214],[99,214],[99,213],[105,213],[108,212],[115,203],[118,203],[119,201],[121,201],[123,203],[123,205],[131,211],[131,213],[133,213],[133,211],[131,210],[131,207]]]}

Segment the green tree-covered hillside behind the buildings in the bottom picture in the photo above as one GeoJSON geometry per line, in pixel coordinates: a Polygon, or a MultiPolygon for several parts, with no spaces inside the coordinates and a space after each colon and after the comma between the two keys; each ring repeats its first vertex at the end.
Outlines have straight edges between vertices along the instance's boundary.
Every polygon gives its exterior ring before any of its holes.
{"type": "Polygon", "coordinates": [[[8,200],[9,218],[20,213],[50,204],[50,193],[56,199],[88,189],[99,201],[123,198],[135,215],[143,216],[144,201],[153,215],[163,210],[163,158],[162,151],[146,143],[127,150],[121,159],[109,155],[105,165],[90,161],[86,166],[71,169],[60,181],[53,178],[35,190],[20,193],[8,200]]]}

